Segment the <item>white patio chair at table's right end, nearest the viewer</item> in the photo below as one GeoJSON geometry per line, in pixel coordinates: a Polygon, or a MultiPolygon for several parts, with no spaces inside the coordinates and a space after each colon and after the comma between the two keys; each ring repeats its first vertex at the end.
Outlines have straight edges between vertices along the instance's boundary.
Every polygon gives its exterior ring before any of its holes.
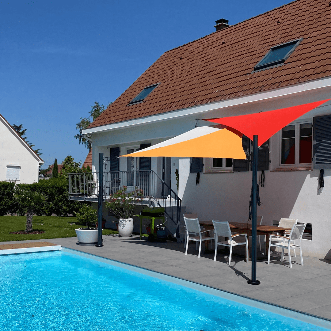
{"type": "Polygon", "coordinates": [[[292,230],[288,237],[280,236],[280,235],[276,235],[276,234],[270,235],[269,249],[268,249],[268,264],[270,264],[270,248],[271,248],[271,246],[274,246],[274,247],[277,247],[277,248],[279,247],[282,249],[282,257],[280,259],[281,261],[283,261],[283,259],[284,259],[284,249],[288,250],[290,268],[292,268],[291,249],[295,250],[296,248],[300,248],[301,265],[304,265],[304,260],[302,259],[301,241],[302,241],[302,236],[304,234],[306,225],[307,225],[307,223],[293,224],[292,230]],[[282,239],[282,242],[273,244],[271,241],[274,241],[274,238],[280,238],[280,239],[282,239]],[[297,239],[300,240],[299,245],[296,245],[294,243],[294,240],[297,240],[297,239]],[[291,241],[293,242],[293,244],[291,244],[291,241]]]}

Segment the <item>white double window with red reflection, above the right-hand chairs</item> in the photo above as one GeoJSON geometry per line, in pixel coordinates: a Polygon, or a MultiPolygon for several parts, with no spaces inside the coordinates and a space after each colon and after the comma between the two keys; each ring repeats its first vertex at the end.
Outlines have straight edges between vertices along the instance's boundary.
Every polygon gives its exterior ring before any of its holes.
{"type": "Polygon", "coordinates": [[[311,122],[295,123],[281,130],[280,164],[311,165],[311,122]]]}

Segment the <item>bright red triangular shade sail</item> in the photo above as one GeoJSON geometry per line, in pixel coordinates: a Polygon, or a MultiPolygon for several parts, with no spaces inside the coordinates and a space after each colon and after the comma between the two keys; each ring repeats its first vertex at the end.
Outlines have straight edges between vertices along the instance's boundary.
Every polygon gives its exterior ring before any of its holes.
{"type": "Polygon", "coordinates": [[[233,128],[243,133],[251,140],[253,140],[254,135],[258,135],[258,146],[261,146],[284,126],[329,100],[331,99],[271,110],[263,113],[261,112],[208,120],[210,122],[222,124],[228,129],[233,128]]]}

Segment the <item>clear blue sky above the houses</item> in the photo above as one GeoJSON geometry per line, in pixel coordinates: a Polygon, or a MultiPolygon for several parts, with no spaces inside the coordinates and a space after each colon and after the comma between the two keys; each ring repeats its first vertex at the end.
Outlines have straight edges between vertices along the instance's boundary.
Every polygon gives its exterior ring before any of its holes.
{"type": "Polygon", "coordinates": [[[0,113],[24,124],[43,168],[84,162],[74,135],[95,101],[114,101],[165,51],[284,0],[1,1],[0,113]]]}

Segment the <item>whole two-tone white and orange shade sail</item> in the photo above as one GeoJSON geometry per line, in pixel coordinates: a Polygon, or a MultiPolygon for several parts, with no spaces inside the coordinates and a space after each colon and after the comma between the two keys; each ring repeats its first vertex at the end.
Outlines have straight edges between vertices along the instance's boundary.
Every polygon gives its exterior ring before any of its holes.
{"type": "Polygon", "coordinates": [[[209,126],[196,127],[141,151],[121,156],[246,159],[241,137],[227,129],[209,126]]]}

